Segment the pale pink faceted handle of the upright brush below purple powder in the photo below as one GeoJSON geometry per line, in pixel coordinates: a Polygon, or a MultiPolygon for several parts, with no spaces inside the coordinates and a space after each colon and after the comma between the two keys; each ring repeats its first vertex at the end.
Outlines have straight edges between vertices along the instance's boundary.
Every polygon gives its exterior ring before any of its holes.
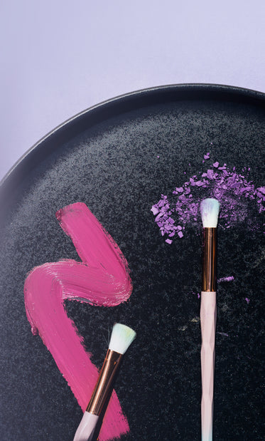
{"type": "Polygon", "coordinates": [[[215,376],[216,292],[201,293],[200,326],[202,348],[202,441],[212,441],[213,385],[215,376]]]}

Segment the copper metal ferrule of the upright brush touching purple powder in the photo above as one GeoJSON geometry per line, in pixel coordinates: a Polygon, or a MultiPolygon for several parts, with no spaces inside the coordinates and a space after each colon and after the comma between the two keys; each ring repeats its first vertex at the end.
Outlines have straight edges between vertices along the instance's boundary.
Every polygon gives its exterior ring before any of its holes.
{"type": "Polygon", "coordinates": [[[203,229],[202,291],[216,291],[217,228],[203,229]]]}

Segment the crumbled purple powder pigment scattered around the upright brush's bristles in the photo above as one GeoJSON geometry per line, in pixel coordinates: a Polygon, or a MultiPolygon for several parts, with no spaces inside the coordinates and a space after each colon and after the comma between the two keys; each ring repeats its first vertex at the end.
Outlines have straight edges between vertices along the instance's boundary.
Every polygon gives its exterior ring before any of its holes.
{"type": "MultiPolygon", "coordinates": [[[[210,152],[204,158],[208,160],[210,152]]],[[[172,244],[173,237],[181,239],[186,227],[200,229],[200,202],[206,197],[214,197],[220,202],[220,228],[244,222],[248,229],[259,229],[261,221],[258,217],[265,210],[265,187],[254,187],[254,183],[248,180],[249,170],[244,167],[242,172],[237,172],[235,167],[231,170],[227,164],[220,165],[215,161],[200,175],[193,175],[176,186],[170,196],[161,194],[151,212],[166,242],[172,244]],[[252,214],[250,217],[250,211],[256,211],[256,216],[252,214]]]]}

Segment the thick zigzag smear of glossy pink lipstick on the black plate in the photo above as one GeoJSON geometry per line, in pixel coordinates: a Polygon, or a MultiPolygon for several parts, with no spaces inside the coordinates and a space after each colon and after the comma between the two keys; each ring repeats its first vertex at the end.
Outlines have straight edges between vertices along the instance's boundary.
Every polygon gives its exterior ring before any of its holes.
{"type": "MultiPolygon", "coordinates": [[[[26,314],[33,334],[42,338],[85,411],[99,371],[67,317],[64,301],[117,306],[129,299],[132,285],[121,250],[85,204],[77,202],[60,209],[56,217],[82,262],[65,259],[34,268],[24,287],[26,314]]],[[[112,440],[126,432],[129,424],[113,391],[99,440],[112,440]]]]}

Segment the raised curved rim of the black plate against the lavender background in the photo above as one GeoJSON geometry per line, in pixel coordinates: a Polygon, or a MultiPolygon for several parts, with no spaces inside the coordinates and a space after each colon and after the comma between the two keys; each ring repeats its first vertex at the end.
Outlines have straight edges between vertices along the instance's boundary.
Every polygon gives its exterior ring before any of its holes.
{"type": "MultiPolygon", "coordinates": [[[[150,88],[143,88],[139,90],[134,90],[129,93],[124,93],[117,95],[114,98],[109,98],[100,103],[90,106],[85,110],[81,110],[79,113],[67,118],[67,120],[60,123],[55,128],[50,130],[46,135],[35,142],[31,147],[26,150],[21,157],[13,164],[6,175],[0,181],[0,199],[3,198],[3,194],[9,194],[12,190],[16,188],[16,185],[12,185],[12,182],[19,182],[25,172],[27,164],[34,162],[34,157],[40,155],[45,157],[45,145],[50,143],[50,140],[56,137],[60,138],[65,130],[69,131],[73,126],[78,125],[78,123],[83,123],[88,120],[92,120],[90,125],[87,125],[87,129],[100,123],[104,120],[112,118],[112,116],[117,116],[123,113],[118,111],[119,106],[122,105],[133,105],[138,100],[139,102],[143,100],[150,100],[151,98],[156,98],[153,103],[158,103],[159,96],[164,96],[174,94],[171,100],[195,100],[198,99],[199,95],[206,95],[207,99],[212,100],[212,95],[214,98],[220,98],[220,100],[232,100],[237,102],[245,102],[252,104],[259,104],[265,109],[265,93],[259,90],[252,90],[249,88],[242,88],[234,85],[225,84],[215,84],[215,83],[178,83],[178,84],[168,84],[168,85],[158,85],[150,88]],[[221,99],[222,98],[222,99],[221,99]],[[112,113],[107,117],[109,110],[116,110],[116,114],[112,113]],[[104,118],[104,114],[106,117],[104,118]],[[93,118],[95,121],[93,122],[93,118]],[[97,120],[98,119],[98,120],[97,120]],[[13,187],[13,188],[12,188],[13,187]]],[[[151,103],[149,103],[151,105],[151,103]]],[[[142,105],[141,107],[144,107],[142,105]]],[[[140,108],[140,107],[139,107],[140,108]]],[[[133,109],[131,109],[133,110],[133,109]]],[[[129,111],[129,110],[127,110],[129,111]]],[[[84,127],[83,130],[86,130],[84,127]]],[[[80,133],[80,130],[77,130],[80,133]]],[[[76,135],[77,135],[76,133],[76,135]]],[[[75,136],[72,135],[70,138],[75,136]]],[[[69,138],[68,138],[69,139],[69,138]]],[[[62,141],[63,142],[63,141],[62,141]]],[[[55,142],[56,144],[56,142],[55,142]]],[[[3,199],[4,200],[4,199],[3,199]]]]}

